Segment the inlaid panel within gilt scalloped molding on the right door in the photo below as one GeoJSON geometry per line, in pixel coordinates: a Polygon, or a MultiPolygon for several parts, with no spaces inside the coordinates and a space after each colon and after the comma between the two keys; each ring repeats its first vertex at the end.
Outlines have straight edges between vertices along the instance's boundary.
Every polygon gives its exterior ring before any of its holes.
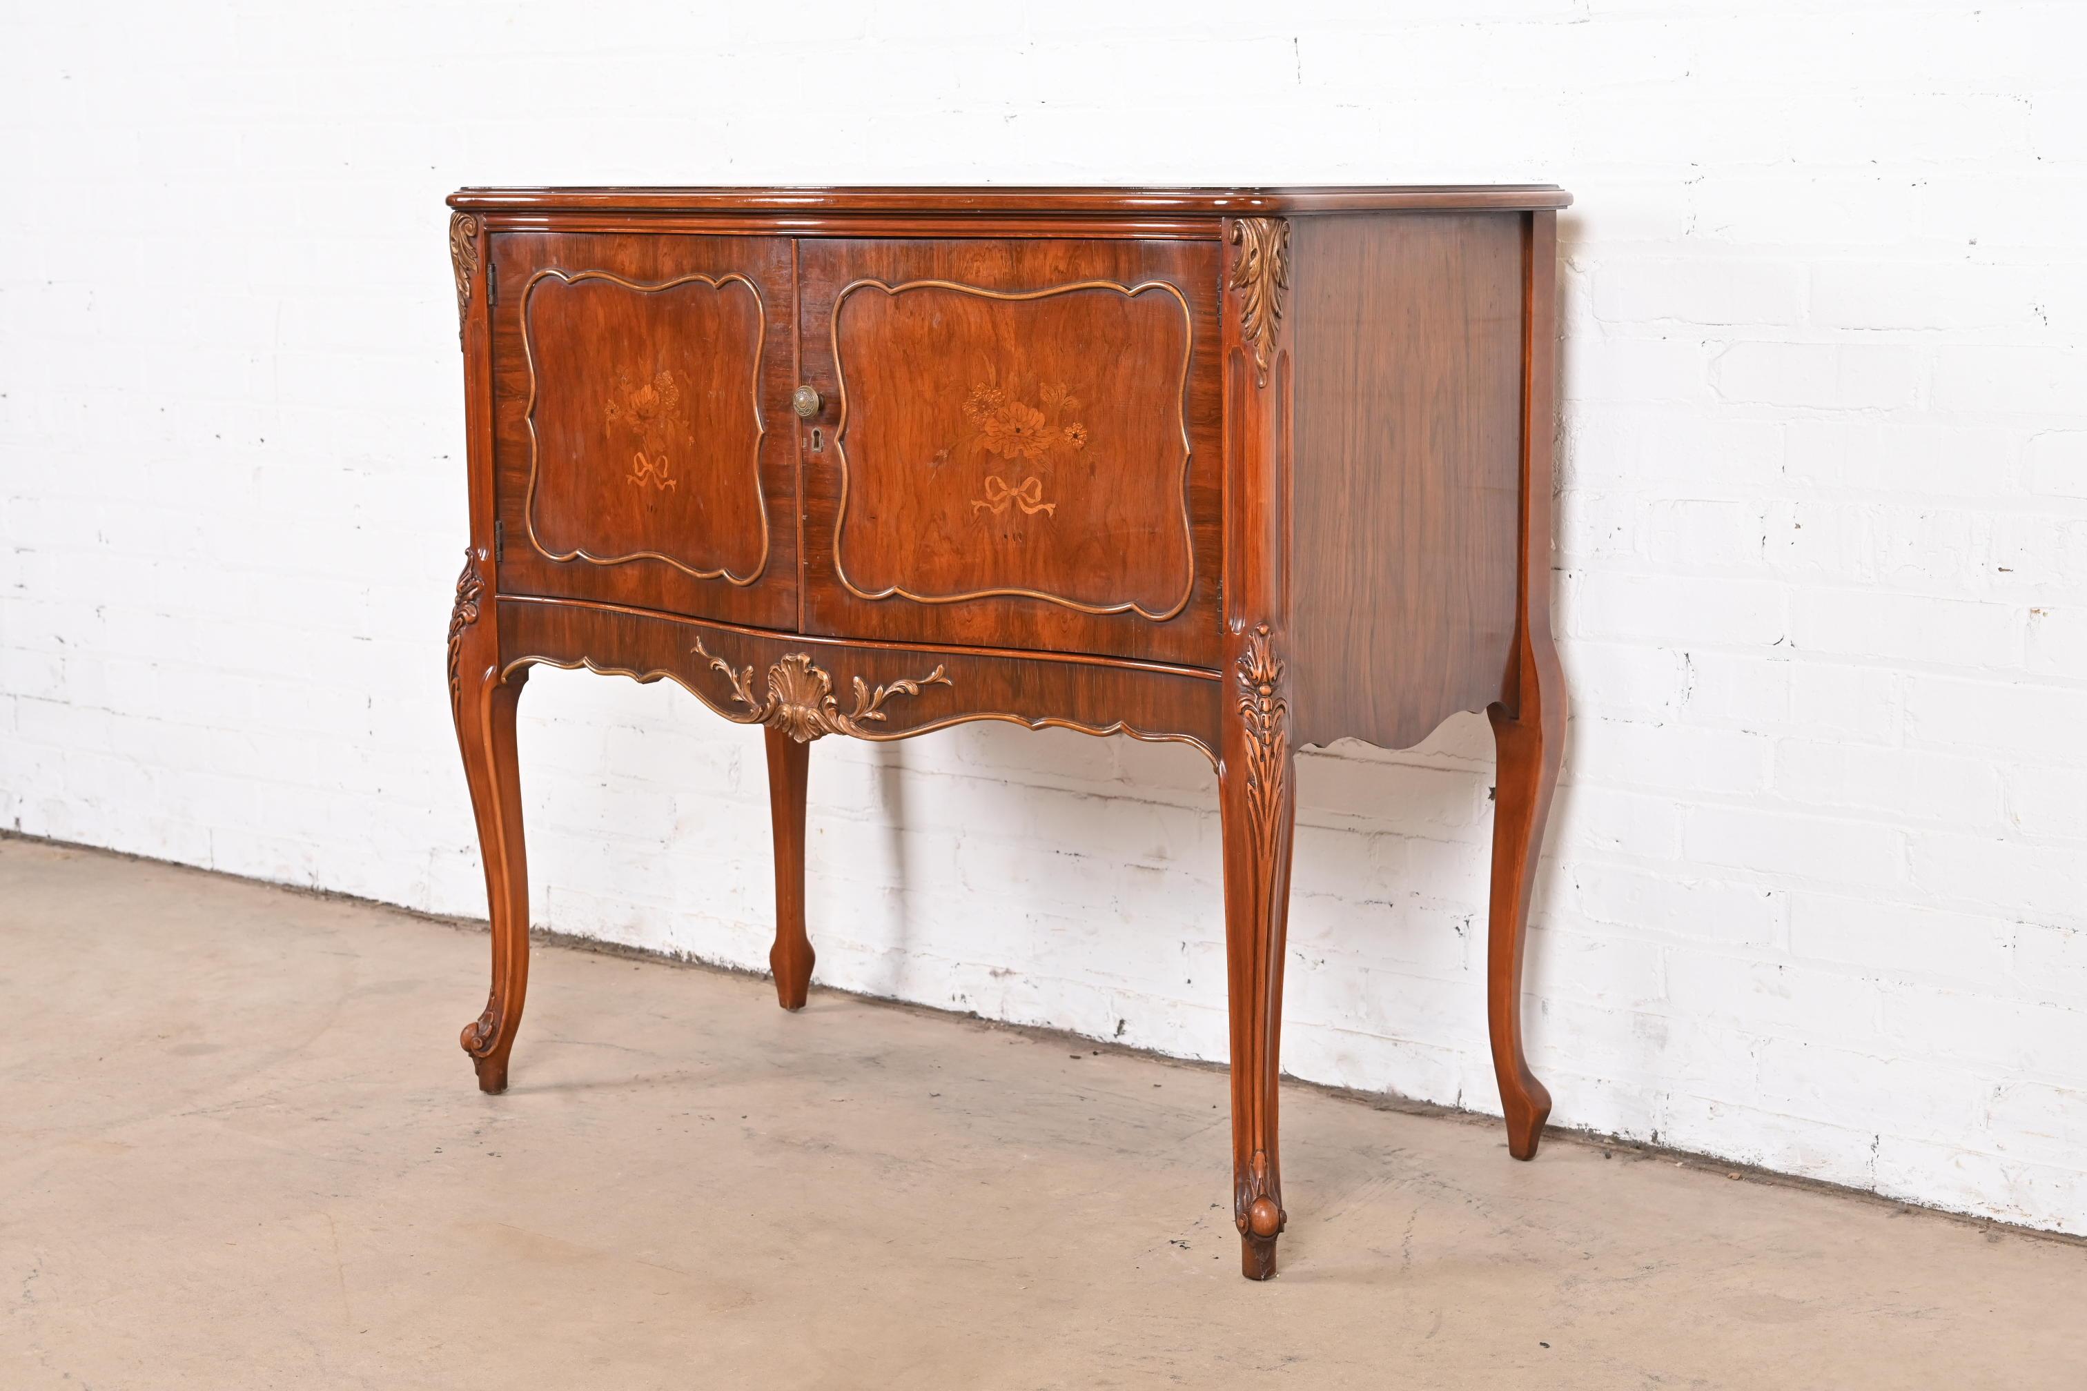
{"type": "Polygon", "coordinates": [[[1179,613],[1196,580],[1192,332],[1162,279],[847,284],[829,323],[841,584],[858,599],[1179,613]],[[1096,344],[1169,369],[1125,371],[1096,344]]]}

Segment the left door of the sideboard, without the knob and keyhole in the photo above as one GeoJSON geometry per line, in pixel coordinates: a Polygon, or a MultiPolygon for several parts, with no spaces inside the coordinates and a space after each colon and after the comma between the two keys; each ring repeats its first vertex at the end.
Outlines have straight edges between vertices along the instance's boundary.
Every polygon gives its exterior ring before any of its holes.
{"type": "Polygon", "coordinates": [[[791,242],[493,238],[501,590],[797,624],[791,242]]]}

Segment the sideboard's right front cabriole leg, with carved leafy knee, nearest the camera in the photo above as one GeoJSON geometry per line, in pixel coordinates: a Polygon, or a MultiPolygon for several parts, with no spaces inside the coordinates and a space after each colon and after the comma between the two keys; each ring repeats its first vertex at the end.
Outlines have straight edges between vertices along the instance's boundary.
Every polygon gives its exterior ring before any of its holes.
{"type": "Polygon", "coordinates": [[[1296,824],[1290,701],[1267,624],[1244,634],[1231,697],[1219,763],[1231,1001],[1231,1212],[1242,1272],[1267,1280],[1275,1274],[1275,1237],[1286,1220],[1275,1089],[1296,824]]]}

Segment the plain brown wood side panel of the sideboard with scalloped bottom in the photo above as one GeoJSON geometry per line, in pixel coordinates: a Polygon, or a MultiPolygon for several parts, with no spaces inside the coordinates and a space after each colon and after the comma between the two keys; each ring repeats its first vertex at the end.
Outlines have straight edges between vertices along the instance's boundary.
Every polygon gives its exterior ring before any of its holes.
{"type": "Polygon", "coordinates": [[[1423,740],[1503,697],[1521,511],[1524,217],[1298,217],[1300,742],[1423,740]]]}

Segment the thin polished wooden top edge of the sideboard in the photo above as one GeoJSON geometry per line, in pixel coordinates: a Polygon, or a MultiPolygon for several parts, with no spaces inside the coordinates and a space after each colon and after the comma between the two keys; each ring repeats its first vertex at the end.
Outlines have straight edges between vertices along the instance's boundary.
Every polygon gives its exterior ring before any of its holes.
{"type": "Polygon", "coordinates": [[[459,188],[476,213],[1254,213],[1536,211],[1572,204],[1557,184],[1344,188],[459,188]]]}

